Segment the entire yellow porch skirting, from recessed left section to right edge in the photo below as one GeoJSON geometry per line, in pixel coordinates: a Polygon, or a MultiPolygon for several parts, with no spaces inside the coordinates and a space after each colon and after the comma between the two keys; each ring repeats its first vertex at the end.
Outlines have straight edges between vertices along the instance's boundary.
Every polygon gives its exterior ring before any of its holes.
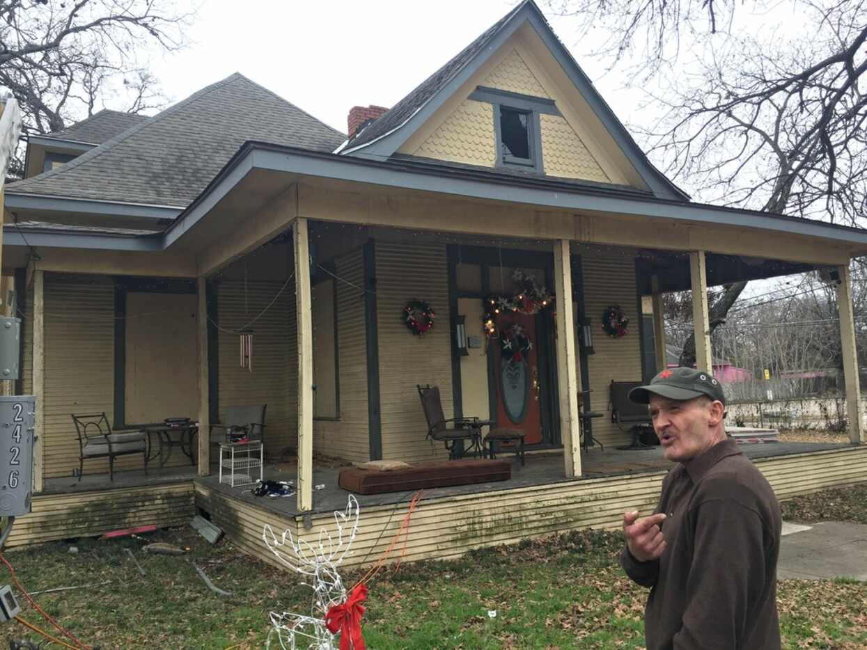
{"type": "MultiPolygon", "coordinates": [[[[527,466],[532,462],[529,459],[527,466]]],[[[758,458],[753,462],[771,482],[780,500],[867,482],[867,445],[758,458]]],[[[442,497],[436,497],[434,492],[432,498],[424,499],[414,510],[404,560],[447,559],[461,556],[469,549],[576,529],[616,530],[624,510],[649,512],[655,506],[664,476],[665,471],[652,470],[501,490],[467,485],[466,493],[442,497]]],[[[147,524],[186,526],[198,506],[211,514],[212,522],[225,530],[232,543],[277,565],[262,541],[265,523],[271,524],[277,533],[288,528],[293,535],[311,538],[322,528],[334,530],[330,509],[312,513],[313,527],[307,530],[303,517],[294,510],[294,499],[254,502],[252,497],[232,496],[231,489],[221,488],[216,481],[208,484],[209,478],[212,477],[36,495],[33,511],[16,519],[6,545],[99,536],[110,530],[147,524]]],[[[376,504],[362,502],[361,524],[347,564],[374,562],[388,547],[406,514],[408,498],[396,504],[405,496],[377,495],[376,504]]]]}

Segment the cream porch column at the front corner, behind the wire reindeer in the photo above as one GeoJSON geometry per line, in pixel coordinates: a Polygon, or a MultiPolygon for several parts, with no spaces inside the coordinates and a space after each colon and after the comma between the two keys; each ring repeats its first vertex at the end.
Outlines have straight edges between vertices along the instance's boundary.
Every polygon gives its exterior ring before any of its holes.
{"type": "Polygon", "coordinates": [[[292,222],[295,241],[295,305],[298,337],[298,510],[313,509],[313,316],[310,309],[310,243],[307,219],[292,222]]]}

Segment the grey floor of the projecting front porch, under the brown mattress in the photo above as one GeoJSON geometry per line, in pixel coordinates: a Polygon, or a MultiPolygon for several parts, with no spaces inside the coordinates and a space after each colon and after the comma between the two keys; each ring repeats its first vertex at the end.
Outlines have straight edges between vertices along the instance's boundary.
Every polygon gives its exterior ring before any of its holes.
{"type": "MultiPolygon", "coordinates": [[[[756,459],[820,452],[848,446],[850,445],[776,442],[748,443],[740,445],[740,449],[748,458],[756,459]]],[[[512,478],[508,481],[435,488],[425,491],[425,497],[436,498],[463,494],[479,494],[481,492],[512,490],[533,485],[562,483],[567,480],[564,475],[562,452],[529,454],[527,455],[524,467],[520,466],[512,454],[504,454],[500,458],[512,459],[512,478]]],[[[642,472],[668,469],[671,466],[671,463],[662,457],[662,447],[659,446],[642,451],[609,450],[606,448],[602,452],[596,449],[589,453],[582,453],[581,460],[583,464],[583,476],[575,480],[640,474],[642,472]]],[[[337,486],[337,474],[339,471],[339,468],[314,467],[313,484],[314,486],[323,485],[323,488],[313,491],[313,513],[343,510],[346,507],[346,499],[349,492],[337,486]]],[[[297,478],[297,469],[295,465],[289,464],[279,467],[267,465],[264,477],[275,481],[292,481],[294,483],[297,478]]],[[[255,504],[260,508],[272,510],[284,517],[294,517],[298,514],[294,494],[291,497],[255,497],[251,493],[249,485],[231,488],[227,484],[220,484],[218,476],[215,474],[207,477],[197,477],[194,480],[212,490],[225,492],[233,498],[255,504]]],[[[365,506],[399,504],[402,501],[408,501],[413,492],[389,492],[388,494],[355,495],[355,497],[358,499],[358,504],[364,508],[365,506]]]]}

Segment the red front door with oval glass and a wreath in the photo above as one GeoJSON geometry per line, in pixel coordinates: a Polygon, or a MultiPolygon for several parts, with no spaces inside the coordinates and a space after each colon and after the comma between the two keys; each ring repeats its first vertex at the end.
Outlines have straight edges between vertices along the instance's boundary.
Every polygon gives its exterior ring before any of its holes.
{"type": "Polygon", "coordinates": [[[499,315],[497,330],[499,339],[491,340],[497,426],[518,429],[524,432],[525,444],[536,445],[542,442],[536,316],[499,315]]]}

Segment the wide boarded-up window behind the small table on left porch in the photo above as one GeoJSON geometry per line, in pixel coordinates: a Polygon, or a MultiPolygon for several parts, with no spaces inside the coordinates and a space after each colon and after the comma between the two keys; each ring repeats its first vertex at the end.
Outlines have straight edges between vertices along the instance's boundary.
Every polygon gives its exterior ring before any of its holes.
{"type": "Polygon", "coordinates": [[[196,419],[199,345],[195,294],[127,293],[125,421],[196,419]]]}

